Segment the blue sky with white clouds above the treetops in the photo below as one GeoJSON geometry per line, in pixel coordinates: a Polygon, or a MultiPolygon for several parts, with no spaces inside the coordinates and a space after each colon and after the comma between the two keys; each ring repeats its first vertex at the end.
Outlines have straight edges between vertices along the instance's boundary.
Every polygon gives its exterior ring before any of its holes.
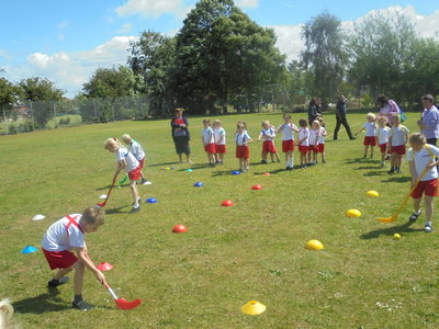
{"type": "MultiPolygon", "coordinates": [[[[289,58],[301,48],[300,24],[329,10],[349,25],[372,10],[403,12],[418,32],[439,30],[439,2],[239,0],[257,23],[273,26],[279,47],[289,58]],[[354,4],[352,4],[354,3],[354,4]]],[[[75,95],[98,67],[126,60],[130,41],[144,30],[175,34],[195,1],[185,0],[14,0],[0,10],[0,68],[18,81],[30,76],[54,80],[75,95]]]]}

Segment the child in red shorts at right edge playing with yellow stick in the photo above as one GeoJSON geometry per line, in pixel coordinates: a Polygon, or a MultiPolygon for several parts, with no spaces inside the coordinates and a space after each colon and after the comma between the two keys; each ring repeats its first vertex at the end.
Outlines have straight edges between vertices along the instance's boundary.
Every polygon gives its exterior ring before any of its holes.
{"type": "Polygon", "coordinates": [[[415,212],[412,214],[409,220],[415,222],[420,215],[420,202],[424,196],[426,206],[426,224],[425,231],[431,231],[431,218],[432,218],[432,200],[438,195],[438,169],[439,161],[435,160],[435,157],[439,157],[439,148],[432,145],[426,144],[426,138],[423,134],[413,134],[409,138],[412,148],[407,151],[407,161],[410,167],[412,174],[412,188],[416,180],[423,173],[424,169],[427,168],[427,172],[420,179],[420,182],[412,193],[413,205],[415,212]]]}

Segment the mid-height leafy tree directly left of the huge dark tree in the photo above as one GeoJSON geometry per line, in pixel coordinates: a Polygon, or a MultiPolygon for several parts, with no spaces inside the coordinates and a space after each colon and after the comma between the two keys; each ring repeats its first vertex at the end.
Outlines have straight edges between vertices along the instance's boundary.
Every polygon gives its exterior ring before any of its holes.
{"type": "Polygon", "coordinates": [[[128,65],[135,75],[143,77],[150,110],[155,114],[169,113],[173,104],[169,70],[175,55],[176,39],[157,32],[143,32],[140,38],[131,44],[128,65]]]}

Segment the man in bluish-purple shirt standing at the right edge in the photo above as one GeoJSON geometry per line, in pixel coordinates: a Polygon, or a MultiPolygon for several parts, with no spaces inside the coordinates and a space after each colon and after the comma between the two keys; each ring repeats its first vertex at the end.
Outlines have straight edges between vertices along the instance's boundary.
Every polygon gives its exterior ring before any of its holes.
{"type": "Polygon", "coordinates": [[[427,138],[427,144],[435,145],[439,138],[439,111],[435,106],[435,99],[431,94],[421,98],[424,113],[421,120],[418,121],[420,132],[427,138]]]}

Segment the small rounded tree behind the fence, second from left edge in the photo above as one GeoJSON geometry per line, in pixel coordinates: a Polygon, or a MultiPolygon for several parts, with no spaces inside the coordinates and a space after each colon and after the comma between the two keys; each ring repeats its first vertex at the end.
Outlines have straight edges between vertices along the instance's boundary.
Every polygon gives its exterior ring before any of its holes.
{"type": "Polygon", "coordinates": [[[55,87],[55,83],[43,78],[27,78],[19,82],[23,99],[33,101],[33,117],[41,128],[55,115],[54,102],[63,99],[65,91],[55,87]]]}

